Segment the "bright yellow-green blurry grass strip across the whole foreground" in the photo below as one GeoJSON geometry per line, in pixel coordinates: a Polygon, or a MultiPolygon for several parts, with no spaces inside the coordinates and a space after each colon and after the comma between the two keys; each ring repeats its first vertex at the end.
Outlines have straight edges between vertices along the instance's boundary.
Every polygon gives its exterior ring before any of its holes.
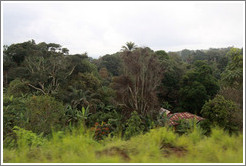
{"type": "Polygon", "coordinates": [[[41,145],[4,148],[4,163],[242,163],[243,136],[229,136],[214,128],[206,137],[201,131],[179,136],[166,128],[152,129],[128,141],[117,137],[97,142],[82,130],[54,133],[41,145]]]}

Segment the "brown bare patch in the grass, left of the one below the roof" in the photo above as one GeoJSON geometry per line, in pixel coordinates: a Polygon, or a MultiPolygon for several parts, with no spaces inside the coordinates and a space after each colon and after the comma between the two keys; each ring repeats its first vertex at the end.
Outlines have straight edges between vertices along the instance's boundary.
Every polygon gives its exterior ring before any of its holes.
{"type": "Polygon", "coordinates": [[[122,150],[118,147],[112,147],[110,149],[105,149],[103,151],[97,151],[96,156],[100,157],[102,155],[107,155],[107,156],[120,156],[124,161],[130,161],[130,157],[126,153],[125,150],[122,150]]]}

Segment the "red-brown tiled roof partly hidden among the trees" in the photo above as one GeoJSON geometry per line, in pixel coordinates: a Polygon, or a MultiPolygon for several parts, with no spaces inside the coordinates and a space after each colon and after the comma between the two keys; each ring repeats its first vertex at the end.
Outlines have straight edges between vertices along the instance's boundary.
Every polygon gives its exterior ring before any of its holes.
{"type": "Polygon", "coordinates": [[[198,122],[201,120],[204,120],[204,118],[191,114],[189,112],[180,112],[180,113],[174,113],[174,114],[168,114],[168,117],[171,117],[169,119],[169,125],[178,125],[177,121],[180,119],[196,119],[198,122]]]}

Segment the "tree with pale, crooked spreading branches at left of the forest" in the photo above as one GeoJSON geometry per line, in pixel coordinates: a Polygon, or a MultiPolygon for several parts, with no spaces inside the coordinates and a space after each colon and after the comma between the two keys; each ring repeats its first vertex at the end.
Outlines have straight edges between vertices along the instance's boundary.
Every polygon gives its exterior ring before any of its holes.
{"type": "Polygon", "coordinates": [[[70,67],[69,63],[63,55],[49,58],[28,56],[25,60],[30,80],[28,86],[43,94],[57,92],[61,82],[73,73],[75,66],[70,67]]]}

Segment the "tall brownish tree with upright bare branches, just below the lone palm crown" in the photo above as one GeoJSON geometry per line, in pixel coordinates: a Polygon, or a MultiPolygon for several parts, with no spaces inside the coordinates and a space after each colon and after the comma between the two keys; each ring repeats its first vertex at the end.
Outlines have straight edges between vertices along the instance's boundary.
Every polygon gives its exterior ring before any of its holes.
{"type": "Polygon", "coordinates": [[[156,90],[162,78],[157,56],[148,48],[138,48],[122,52],[121,58],[123,74],[113,80],[119,104],[130,112],[152,115],[158,106],[156,90]]]}

